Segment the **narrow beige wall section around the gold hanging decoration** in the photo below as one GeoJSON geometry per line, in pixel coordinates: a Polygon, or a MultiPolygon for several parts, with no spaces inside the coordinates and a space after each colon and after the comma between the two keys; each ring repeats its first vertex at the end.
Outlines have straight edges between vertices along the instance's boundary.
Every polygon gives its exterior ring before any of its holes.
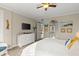
{"type": "Polygon", "coordinates": [[[3,9],[3,14],[4,14],[4,42],[6,42],[9,46],[12,45],[12,12],[8,11],[6,9],[3,9]],[[7,29],[7,22],[9,21],[9,29],[7,29]]]}

